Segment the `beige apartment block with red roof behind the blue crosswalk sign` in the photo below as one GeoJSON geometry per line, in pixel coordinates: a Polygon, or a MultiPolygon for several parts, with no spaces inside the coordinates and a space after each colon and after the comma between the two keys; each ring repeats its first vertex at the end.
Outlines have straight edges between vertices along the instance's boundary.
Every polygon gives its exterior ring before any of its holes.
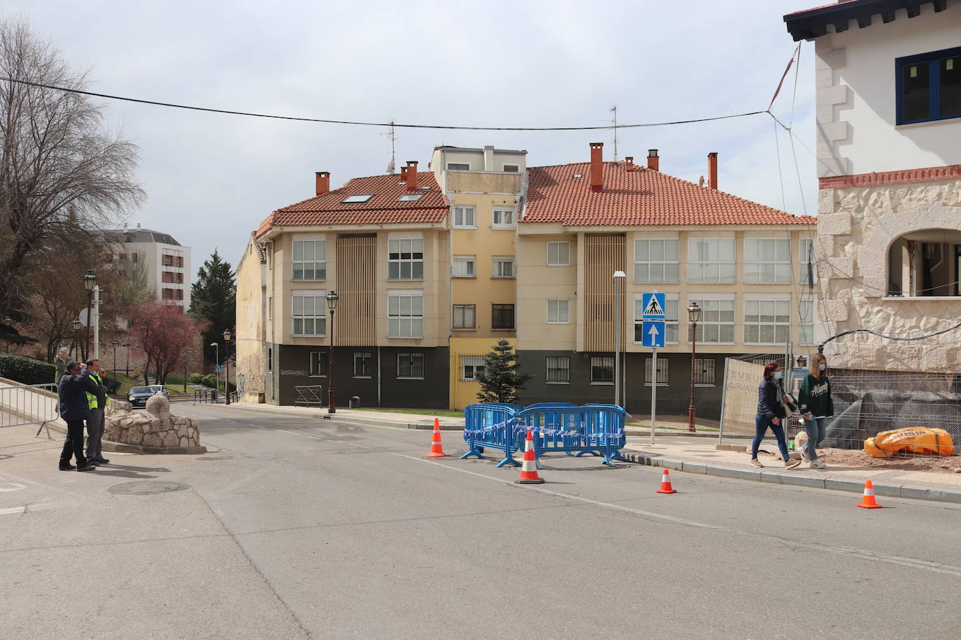
{"type": "Polygon", "coordinates": [[[627,409],[686,412],[691,336],[687,307],[702,309],[695,387],[699,415],[720,413],[725,358],[783,353],[814,342],[815,299],[806,286],[816,220],[718,189],[717,154],[701,186],[647,166],[590,161],[529,170],[517,225],[517,351],[533,378],[524,402],[614,400],[615,285],[622,291],[627,409]],[[666,294],[666,346],[653,371],[641,346],[641,296],[666,294]],[[663,389],[661,389],[663,388],[663,389]]]}

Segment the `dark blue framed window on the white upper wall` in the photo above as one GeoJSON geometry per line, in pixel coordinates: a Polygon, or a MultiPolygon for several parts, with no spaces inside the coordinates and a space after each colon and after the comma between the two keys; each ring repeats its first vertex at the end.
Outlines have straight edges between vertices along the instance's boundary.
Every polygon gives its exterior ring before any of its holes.
{"type": "Polygon", "coordinates": [[[961,117],[961,47],[895,59],[898,124],[961,117]]]}

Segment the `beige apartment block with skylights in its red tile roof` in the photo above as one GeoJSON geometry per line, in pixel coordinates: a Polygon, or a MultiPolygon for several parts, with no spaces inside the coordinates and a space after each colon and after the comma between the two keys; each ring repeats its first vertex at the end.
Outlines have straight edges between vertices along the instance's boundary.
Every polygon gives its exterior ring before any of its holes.
{"type": "Polygon", "coordinates": [[[319,385],[326,398],[333,355],[337,404],[446,409],[450,203],[437,180],[409,161],[333,190],[320,172],[315,187],[259,225],[237,267],[240,397],[288,405],[319,385]]]}

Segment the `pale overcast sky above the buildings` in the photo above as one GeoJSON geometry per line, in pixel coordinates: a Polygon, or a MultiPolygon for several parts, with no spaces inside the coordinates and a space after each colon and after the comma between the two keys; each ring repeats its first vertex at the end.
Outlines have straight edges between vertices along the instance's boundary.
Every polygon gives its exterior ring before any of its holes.
{"type": "MultiPolygon", "coordinates": [[[[6,0],[52,39],[91,90],[186,105],[304,117],[494,127],[593,126],[765,109],[795,43],[784,13],[816,2],[487,0],[438,3],[6,0]]],[[[801,49],[794,126],[814,149],[813,47],[801,49]]],[[[794,71],[773,109],[792,110],[794,71]]],[[[236,264],[272,210],[384,172],[390,141],[375,127],[295,123],[107,101],[109,126],[140,148],[148,200],[127,222],[236,264]]],[[[619,155],[697,181],[720,153],[724,191],[815,213],[812,155],[768,115],[618,131],[619,155]]],[[[528,165],[586,161],[612,132],[398,130],[397,160],[426,167],[434,146],[528,150],[528,165]]]]}

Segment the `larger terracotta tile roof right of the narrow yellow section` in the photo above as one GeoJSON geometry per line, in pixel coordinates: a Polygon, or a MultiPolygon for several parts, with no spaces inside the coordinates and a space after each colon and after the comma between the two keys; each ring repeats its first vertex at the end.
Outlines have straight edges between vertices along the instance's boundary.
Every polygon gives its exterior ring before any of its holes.
{"type": "Polygon", "coordinates": [[[597,225],[816,225],[723,191],[646,167],[604,162],[604,190],[590,188],[590,163],[531,167],[522,223],[597,225]],[[581,178],[574,178],[580,174],[581,178]]]}

